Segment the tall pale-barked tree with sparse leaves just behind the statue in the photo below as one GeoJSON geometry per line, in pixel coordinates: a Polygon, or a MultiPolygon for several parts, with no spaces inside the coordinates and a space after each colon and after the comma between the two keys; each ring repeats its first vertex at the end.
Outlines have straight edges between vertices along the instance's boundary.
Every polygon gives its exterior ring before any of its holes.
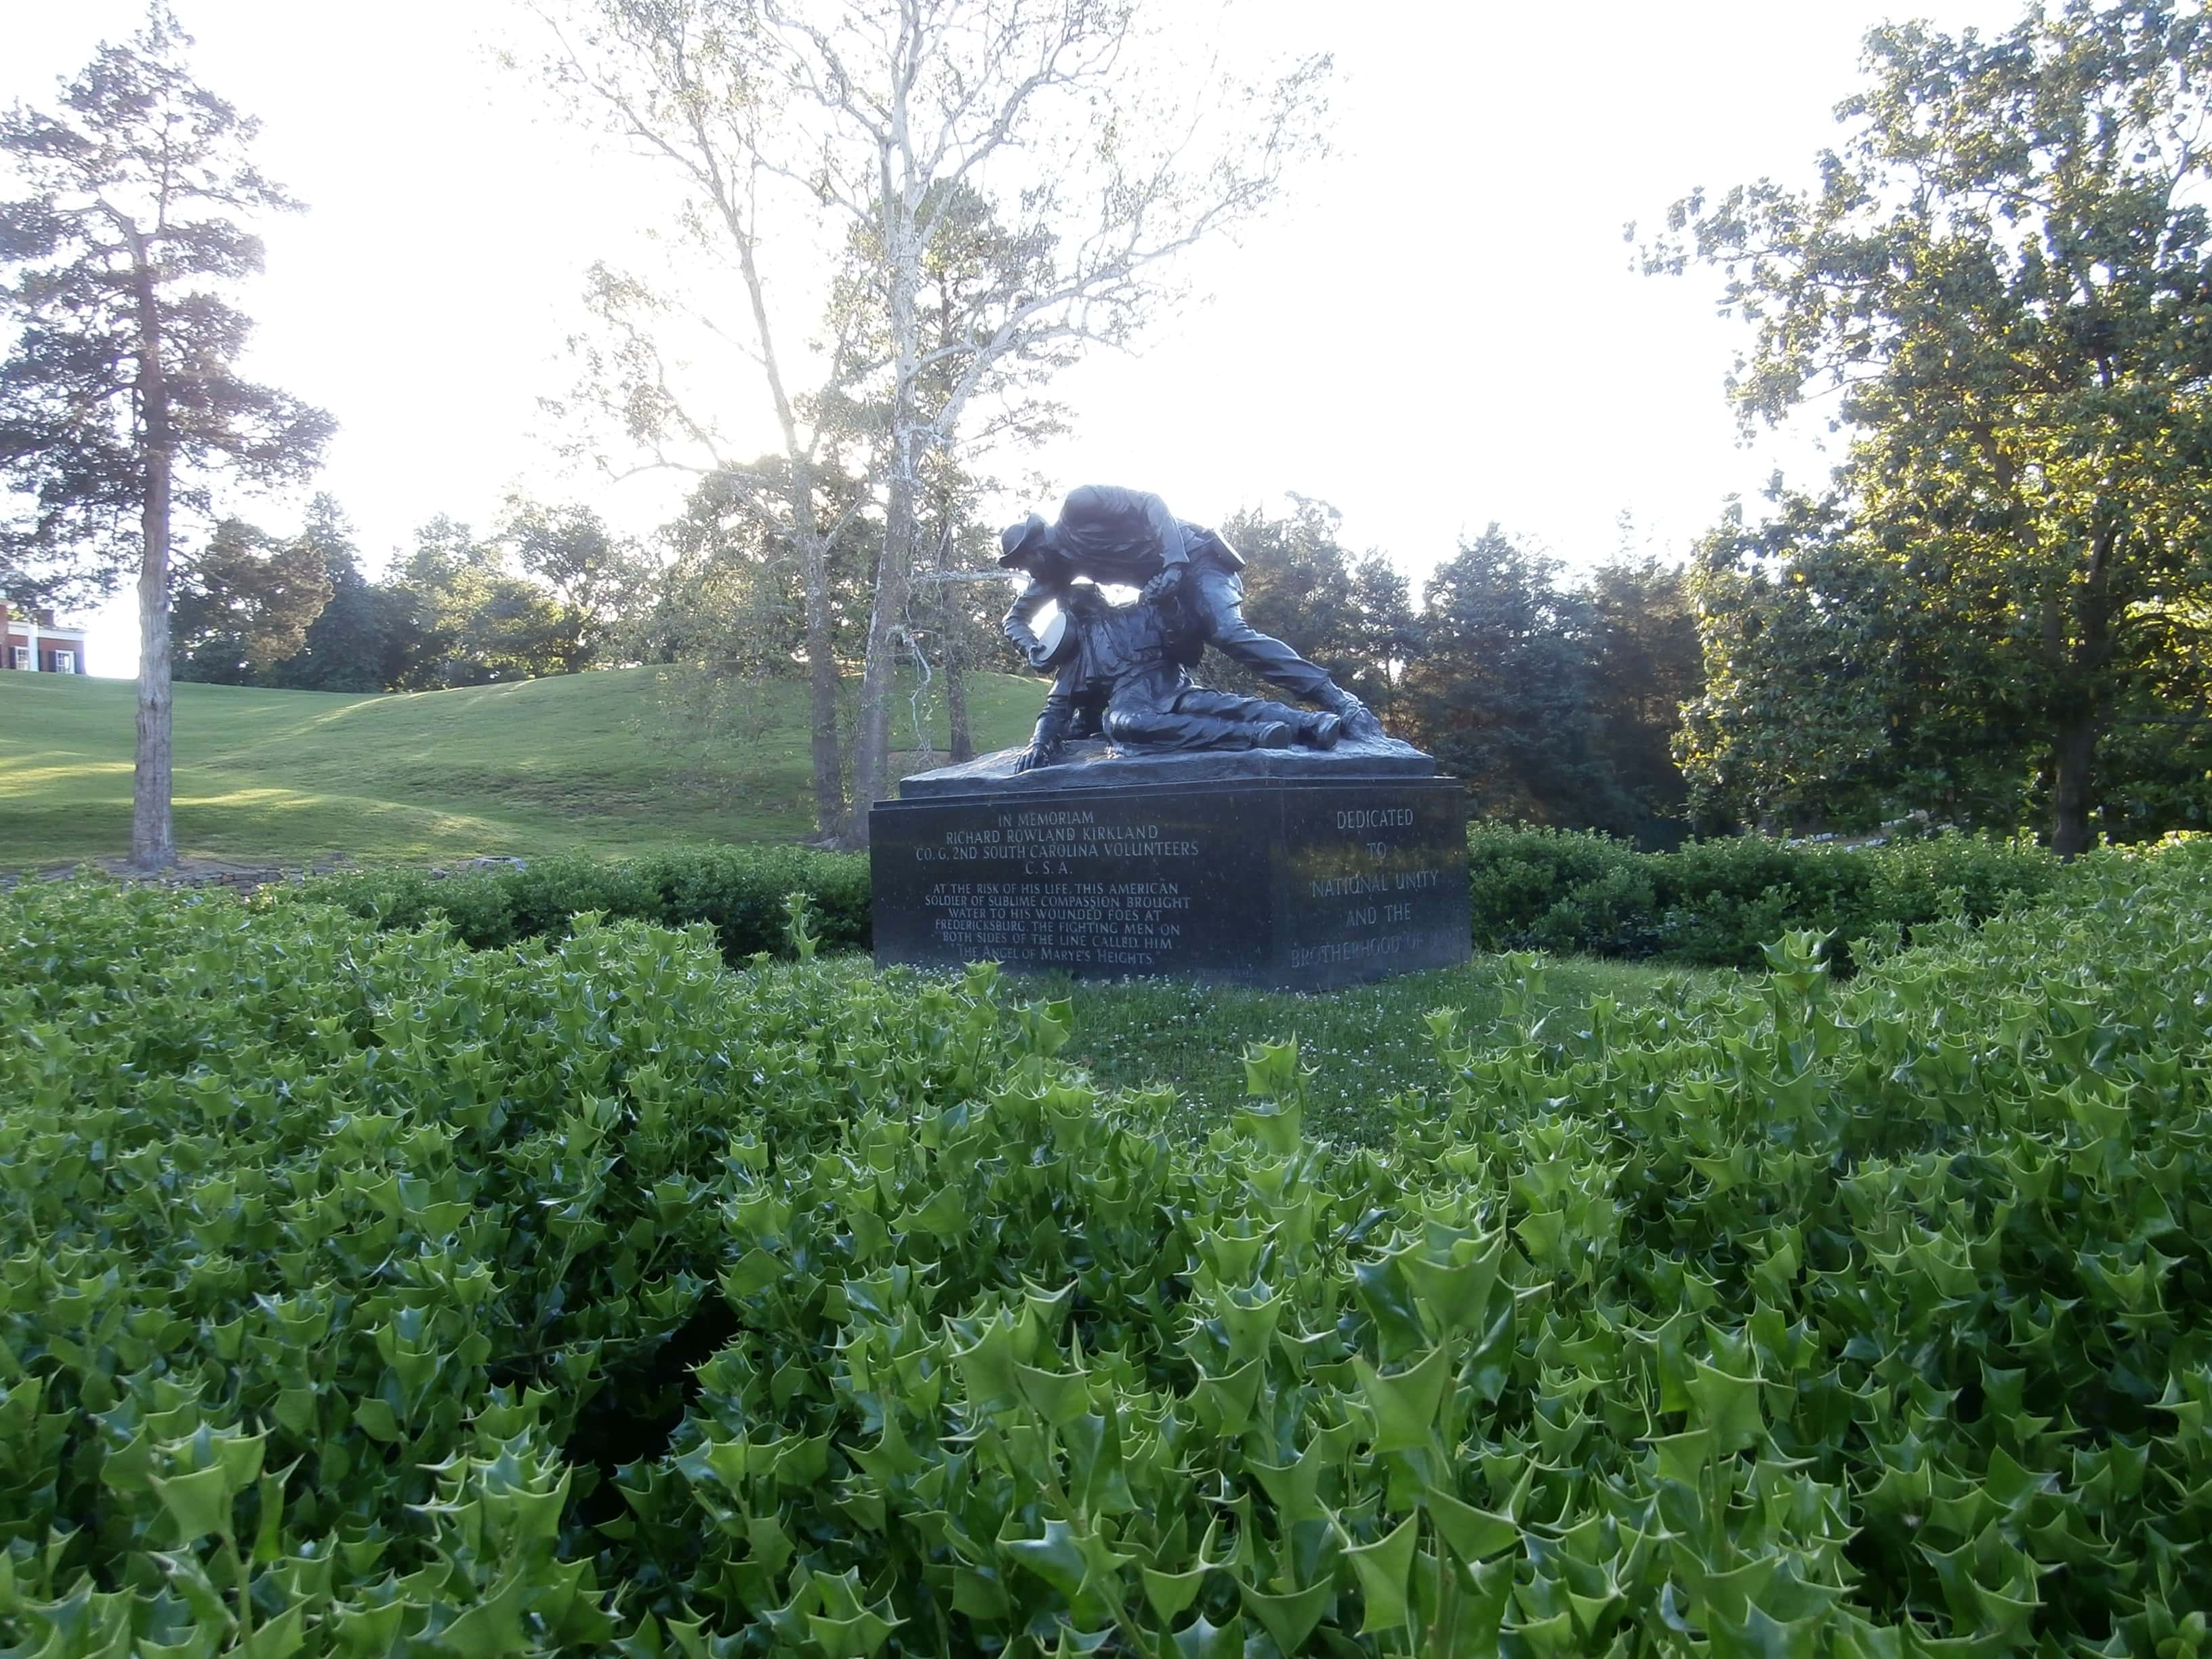
{"type": "MultiPolygon", "coordinates": [[[[1265,208],[1285,166],[1316,146],[1327,60],[1265,88],[1177,95],[1172,62],[1141,55],[1137,7],[1110,0],[595,0],[580,13],[557,71],[681,168],[697,192],[688,226],[712,228],[734,254],[748,347],[794,462],[812,449],[794,436],[783,358],[763,349],[765,215],[834,215],[852,246],[874,250],[847,285],[867,305],[834,310],[827,354],[847,365],[830,378],[841,398],[880,411],[883,551],[854,745],[856,838],[887,781],[927,458],[956,451],[978,403],[1084,343],[1126,343],[1168,292],[1166,261],[1265,208]],[[962,239],[989,254],[987,276],[962,294],[958,327],[931,336],[929,261],[953,223],[975,232],[962,239]]],[[[650,389],[644,374],[635,385],[650,389]]]]}

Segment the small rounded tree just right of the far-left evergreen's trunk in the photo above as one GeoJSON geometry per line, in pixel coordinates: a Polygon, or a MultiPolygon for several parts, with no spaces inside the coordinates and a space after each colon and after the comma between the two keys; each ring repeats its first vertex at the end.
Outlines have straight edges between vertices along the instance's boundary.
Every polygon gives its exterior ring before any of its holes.
{"type": "Polygon", "coordinates": [[[305,538],[279,542],[237,518],[184,568],[170,617],[177,679],[246,686],[307,644],[334,584],[305,538]]]}

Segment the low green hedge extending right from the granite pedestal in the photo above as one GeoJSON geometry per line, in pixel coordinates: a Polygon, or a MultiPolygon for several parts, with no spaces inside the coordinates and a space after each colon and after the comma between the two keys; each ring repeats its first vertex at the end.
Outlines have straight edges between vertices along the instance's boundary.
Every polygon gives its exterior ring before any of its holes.
{"type": "Polygon", "coordinates": [[[1701,967],[1759,967],[1790,929],[1834,933],[1836,960],[1916,927],[1982,922],[2044,894],[2062,865],[2024,843],[1933,836],[1882,847],[1692,841],[1637,852],[1568,830],[1473,825],[1467,887],[1478,951],[1582,951],[1701,967]]]}

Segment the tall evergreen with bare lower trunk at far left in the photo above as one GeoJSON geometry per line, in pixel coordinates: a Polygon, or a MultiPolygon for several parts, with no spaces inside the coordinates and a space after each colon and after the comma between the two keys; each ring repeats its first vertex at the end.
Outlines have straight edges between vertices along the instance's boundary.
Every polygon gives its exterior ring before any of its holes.
{"type": "Polygon", "coordinates": [[[170,518],[208,478],[303,478],[332,422],[241,380],[252,327],[223,294],[261,270],[241,219],[296,204],[248,159],[257,124],[199,86],[161,7],[128,46],[102,44],[53,113],[0,115],[27,195],[0,201],[4,290],[20,321],[0,363],[0,476],[31,498],[9,564],[139,566],[139,712],[131,860],[177,858],[170,823],[170,518]]]}

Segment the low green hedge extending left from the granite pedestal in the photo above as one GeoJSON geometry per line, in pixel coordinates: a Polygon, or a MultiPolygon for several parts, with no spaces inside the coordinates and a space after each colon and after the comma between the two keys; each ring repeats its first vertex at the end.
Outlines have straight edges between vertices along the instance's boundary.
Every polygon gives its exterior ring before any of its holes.
{"type": "Polygon", "coordinates": [[[531,858],[469,876],[372,869],[274,889],[274,902],[338,905],[380,927],[422,927],[442,914],[453,938],[478,951],[566,933],[586,914],[659,927],[706,922],[723,958],[739,962],[783,949],[783,896],[792,891],[814,900],[825,949],[867,949],[867,858],[801,847],[531,858]]]}

